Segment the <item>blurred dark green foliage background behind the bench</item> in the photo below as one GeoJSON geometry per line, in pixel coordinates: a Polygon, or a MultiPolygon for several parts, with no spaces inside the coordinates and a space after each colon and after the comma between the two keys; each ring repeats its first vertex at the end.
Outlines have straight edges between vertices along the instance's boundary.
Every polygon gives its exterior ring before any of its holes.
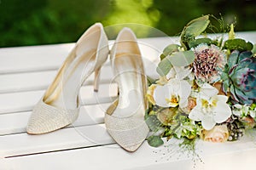
{"type": "Polygon", "coordinates": [[[255,8],[254,0],[0,0],[0,47],[75,42],[95,22],[137,23],[175,36],[202,14],[255,31],[255,8]]]}

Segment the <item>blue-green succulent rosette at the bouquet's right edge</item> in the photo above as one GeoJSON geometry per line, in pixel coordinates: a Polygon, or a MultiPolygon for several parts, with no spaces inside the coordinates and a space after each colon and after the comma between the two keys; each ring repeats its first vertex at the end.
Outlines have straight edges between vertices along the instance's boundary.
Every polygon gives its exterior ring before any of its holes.
{"type": "Polygon", "coordinates": [[[256,101],[256,58],[251,51],[234,50],[222,74],[223,91],[233,104],[251,105],[256,101]]]}

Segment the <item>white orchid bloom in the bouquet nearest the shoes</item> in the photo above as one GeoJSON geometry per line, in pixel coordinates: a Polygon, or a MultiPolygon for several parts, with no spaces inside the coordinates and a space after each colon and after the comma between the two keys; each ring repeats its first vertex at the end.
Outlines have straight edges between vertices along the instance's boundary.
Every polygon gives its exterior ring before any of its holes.
{"type": "Polygon", "coordinates": [[[154,88],[153,98],[156,105],[161,107],[185,107],[191,92],[189,82],[172,78],[164,86],[154,88]]]}

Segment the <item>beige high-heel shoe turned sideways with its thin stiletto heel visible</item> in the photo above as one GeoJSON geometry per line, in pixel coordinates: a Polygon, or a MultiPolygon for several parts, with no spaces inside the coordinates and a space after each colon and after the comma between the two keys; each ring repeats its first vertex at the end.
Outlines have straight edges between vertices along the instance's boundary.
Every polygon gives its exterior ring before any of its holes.
{"type": "Polygon", "coordinates": [[[49,133],[73,123],[79,116],[80,87],[95,71],[94,88],[98,90],[100,69],[108,54],[108,37],[102,24],[90,26],[34,107],[26,127],[27,133],[49,133]]]}

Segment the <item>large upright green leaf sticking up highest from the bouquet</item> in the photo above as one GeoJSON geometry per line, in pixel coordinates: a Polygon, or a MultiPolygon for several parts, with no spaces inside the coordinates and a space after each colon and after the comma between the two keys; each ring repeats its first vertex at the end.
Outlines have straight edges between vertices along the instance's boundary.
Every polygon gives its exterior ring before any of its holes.
{"type": "Polygon", "coordinates": [[[194,40],[195,37],[201,35],[201,33],[207,29],[209,24],[209,15],[191,20],[187,26],[184,27],[181,34],[181,44],[183,45],[183,48],[189,48],[189,41],[194,40]]]}

